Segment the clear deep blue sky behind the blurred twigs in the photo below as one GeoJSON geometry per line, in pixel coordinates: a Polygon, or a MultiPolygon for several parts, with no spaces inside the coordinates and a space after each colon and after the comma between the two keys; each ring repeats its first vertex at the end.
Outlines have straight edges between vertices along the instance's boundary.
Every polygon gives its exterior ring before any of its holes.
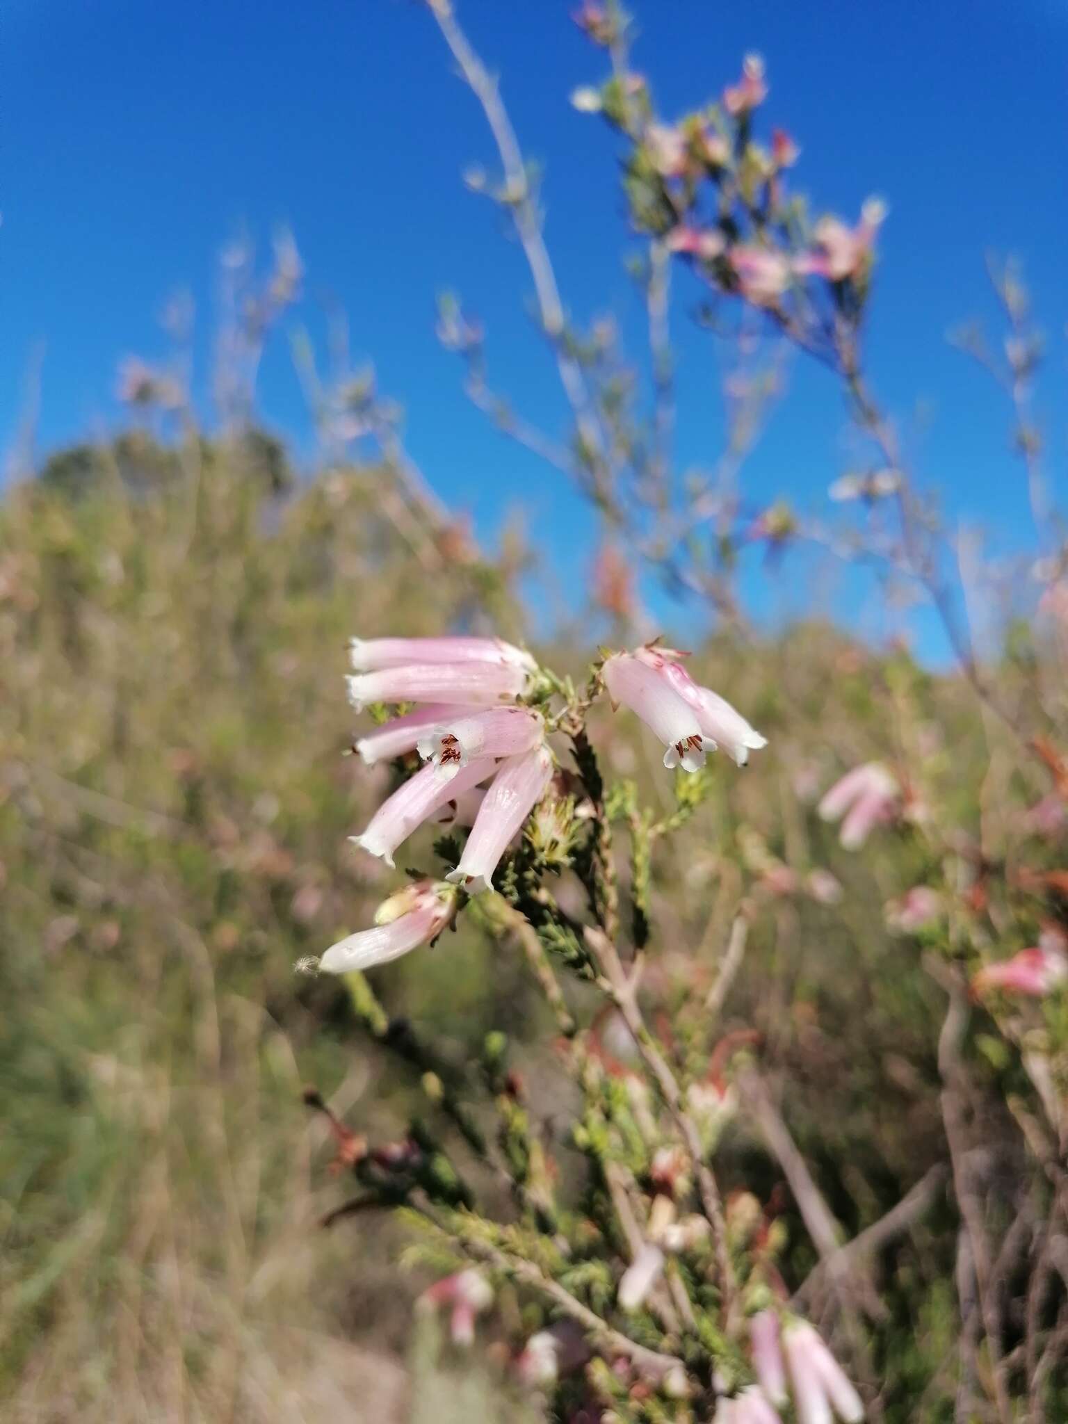
{"type": "MultiPolygon", "coordinates": [[[[530,155],[547,168],[548,239],[580,319],[635,299],[615,144],[570,107],[600,77],[601,54],[557,0],[459,0],[476,47],[503,77],[530,155]]],[[[1065,318],[1068,4],[1064,0],[646,0],[635,63],[665,114],[736,75],[748,50],[768,63],[768,117],[803,154],[796,184],[817,208],[853,216],[870,192],[890,219],[870,339],[884,403],[914,431],[911,454],[954,515],[1002,547],[1030,537],[1007,412],[946,332],[990,315],[983,256],[1018,253],[1051,337],[1065,318]]],[[[318,300],[349,312],[356,353],[407,410],[413,454],[434,487],[493,537],[517,504],[565,567],[587,558],[592,520],[562,477],[466,406],[454,357],[434,339],[434,298],[459,290],[488,328],[496,383],[550,427],[562,419],[531,332],[530,281],[494,211],[460,172],[491,150],[471,95],[424,9],[410,0],[9,0],[0,83],[6,144],[0,208],[0,434],[26,409],[44,343],[40,444],[114,426],[114,372],[161,356],[164,299],[192,290],[206,365],[214,265],[246,228],[266,248],[289,224],[308,268],[300,315],[318,300]]],[[[685,312],[684,463],[709,463],[722,430],[721,369],[685,312]]],[[[1051,342],[1047,410],[1062,389],[1051,342]]],[[[263,372],[269,422],[306,433],[285,340],[263,372]]],[[[1051,427],[1054,456],[1062,427],[1051,427]]],[[[797,366],[748,473],[753,503],[785,494],[817,508],[846,463],[833,382],[797,366]]],[[[789,565],[763,607],[802,604],[789,565]]],[[[805,588],[805,597],[813,588],[805,588]]],[[[816,590],[857,614],[849,578],[816,590]]],[[[934,645],[931,645],[934,646],[934,645]]],[[[937,651],[937,649],[936,649],[937,651]]]]}

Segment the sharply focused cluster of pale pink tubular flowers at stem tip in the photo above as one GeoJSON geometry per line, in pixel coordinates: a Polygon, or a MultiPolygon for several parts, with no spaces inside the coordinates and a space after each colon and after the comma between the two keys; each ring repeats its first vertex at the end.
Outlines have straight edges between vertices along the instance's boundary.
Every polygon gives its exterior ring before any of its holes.
{"type": "MultiPolygon", "coordinates": [[[[632,708],[665,742],[666,768],[693,772],[721,745],[743,766],[766,739],[729,702],[698,686],[684,656],[645,645],[607,656],[601,676],[614,705],[632,708]]],[[[394,852],[429,822],[470,826],[470,834],[443,880],[423,879],[389,897],[375,928],[323,954],[319,967],[335,974],[433,943],[454,920],[460,891],[478,894],[493,886],[555,768],[544,703],[534,705],[538,668],[524,649],[501,638],[353,638],[349,658],[349,701],[357,712],[417,703],[357,738],[353,749],[367,766],[410,752],[424,762],[350,837],[353,844],[393,867],[394,852]]]]}

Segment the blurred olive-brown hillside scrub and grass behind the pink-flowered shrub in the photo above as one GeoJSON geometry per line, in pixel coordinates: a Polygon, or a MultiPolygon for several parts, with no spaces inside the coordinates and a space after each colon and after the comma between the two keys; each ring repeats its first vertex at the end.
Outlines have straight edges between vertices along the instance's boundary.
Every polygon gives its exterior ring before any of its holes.
{"type": "MultiPolygon", "coordinates": [[[[450,1363],[427,1324],[404,1368],[416,1287],[397,1287],[389,1265],[396,1229],[316,1226],[342,1196],[302,1085],[387,1138],[417,1084],[367,1045],[343,987],[295,977],[293,964],[366,923],[389,884],[346,842],[389,778],[343,755],[346,638],[490,627],[521,637],[520,564],[515,550],[488,562],[434,531],[386,464],[299,480],[266,436],[165,446],[134,431],[63,451],[9,490],[6,1418],[493,1417],[488,1367],[450,1363]],[[463,1386],[443,1391],[441,1368],[461,1370],[463,1386]]],[[[565,669],[568,649],[554,659],[565,669]]],[[[981,793],[1024,806],[1037,786],[1015,763],[1004,786],[984,786],[991,739],[1008,733],[984,726],[961,679],[901,652],[876,656],[799,625],[756,644],[723,637],[695,664],[770,748],[742,776],[713,766],[685,856],[655,856],[651,948],[668,984],[684,946],[713,963],[742,867],[759,880],[763,854],[800,873],[833,869],[844,887],[833,913],[766,897],[723,1027],[759,1032],[763,1071],[852,1235],[944,1156],[944,995],[921,973],[923,936],[893,937],[883,920],[883,904],[923,880],[921,843],[844,854],[799,780],[823,787],[889,748],[913,758],[921,736],[924,773],[954,824],[978,832],[981,793]]],[[[1035,664],[1031,645],[1005,664],[1007,698],[1025,702],[1035,664]]],[[[659,758],[632,721],[597,716],[611,775],[671,812],[659,758]]],[[[413,863],[420,853],[412,847],[413,863]]],[[[520,1061],[535,1027],[520,956],[471,924],[376,981],[392,1011],[434,1031],[457,1072],[491,1025],[518,1038],[520,1061]]],[[[990,1085],[981,1136],[1011,1182],[1022,1148],[1002,1121],[1002,1079],[1017,1069],[1004,1049],[984,1062],[981,1034],[975,1042],[990,1085]]],[[[568,1085],[553,1061],[538,1068],[533,1101],[551,1124],[568,1085]]],[[[815,1256],[778,1166],[743,1128],[719,1161],[729,1188],[778,1196],[799,1284],[815,1256]]],[[[889,1418],[950,1417],[913,1408],[928,1387],[944,1398],[954,1252],[956,1216],[938,1200],[876,1263],[889,1418]]]]}

